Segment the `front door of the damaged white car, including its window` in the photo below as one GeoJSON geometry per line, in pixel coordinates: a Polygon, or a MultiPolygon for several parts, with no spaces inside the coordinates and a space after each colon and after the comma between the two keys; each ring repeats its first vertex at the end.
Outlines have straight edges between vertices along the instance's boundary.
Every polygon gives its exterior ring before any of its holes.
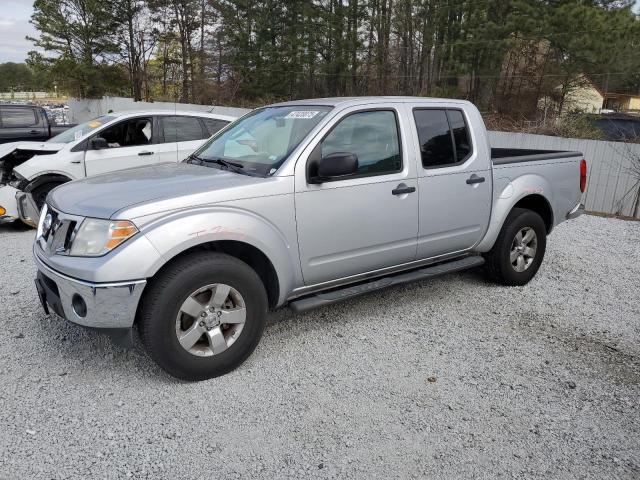
{"type": "Polygon", "coordinates": [[[157,163],[152,116],[127,118],[96,132],[87,142],[85,169],[87,176],[142,167],[157,163]],[[93,139],[106,140],[107,147],[97,149],[93,139]]]}

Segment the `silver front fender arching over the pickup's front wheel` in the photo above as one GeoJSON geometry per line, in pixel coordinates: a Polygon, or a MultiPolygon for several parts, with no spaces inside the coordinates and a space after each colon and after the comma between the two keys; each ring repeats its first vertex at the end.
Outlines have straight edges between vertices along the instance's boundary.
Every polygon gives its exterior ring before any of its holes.
{"type": "Polygon", "coordinates": [[[292,245],[273,222],[255,212],[238,207],[208,206],[176,211],[140,228],[162,256],[147,277],[155,275],[168,261],[192,247],[232,240],[257,248],[270,260],[278,276],[278,304],[282,304],[294,288],[297,246],[292,245]]]}

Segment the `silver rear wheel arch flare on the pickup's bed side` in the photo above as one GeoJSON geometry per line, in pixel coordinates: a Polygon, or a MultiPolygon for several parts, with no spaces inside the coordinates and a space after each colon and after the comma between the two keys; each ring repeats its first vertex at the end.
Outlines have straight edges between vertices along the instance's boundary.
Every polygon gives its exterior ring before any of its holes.
{"type": "MultiPolygon", "coordinates": [[[[499,183],[500,182],[496,181],[496,186],[499,185],[499,183]]],[[[504,185],[504,183],[502,185],[504,185]]],[[[506,186],[500,191],[497,191],[495,195],[489,228],[484,238],[475,248],[478,252],[488,252],[491,250],[500,234],[500,230],[502,230],[507,215],[509,215],[513,207],[523,198],[529,195],[539,195],[549,203],[549,206],[553,205],[553,190],[551,184],[544,177],[533,173],[522,175],[508,181],[506,186]]]]}

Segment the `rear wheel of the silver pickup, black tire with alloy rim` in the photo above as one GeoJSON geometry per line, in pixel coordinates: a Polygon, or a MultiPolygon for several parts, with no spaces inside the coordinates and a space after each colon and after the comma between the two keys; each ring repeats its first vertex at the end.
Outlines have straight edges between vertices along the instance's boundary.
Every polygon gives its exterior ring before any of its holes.
{"type": "Polygon", "coordinates": [[[546,247],[547,228],[540,215],[514,208],[484,255],[487,276],[502,285],[525,285],[540,268],[546,247]]]}

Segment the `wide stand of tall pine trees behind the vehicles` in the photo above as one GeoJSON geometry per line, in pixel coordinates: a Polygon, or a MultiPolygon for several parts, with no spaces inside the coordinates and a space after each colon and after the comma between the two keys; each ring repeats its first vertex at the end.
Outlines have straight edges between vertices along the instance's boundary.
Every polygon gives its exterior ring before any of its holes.
{"type": "Polygon", "coordinates": [[[33,71],[69,93],[257,104],[334,95],[558,111],[583,74],[640,91],[627,0],[36,0],[33,71]]]}

